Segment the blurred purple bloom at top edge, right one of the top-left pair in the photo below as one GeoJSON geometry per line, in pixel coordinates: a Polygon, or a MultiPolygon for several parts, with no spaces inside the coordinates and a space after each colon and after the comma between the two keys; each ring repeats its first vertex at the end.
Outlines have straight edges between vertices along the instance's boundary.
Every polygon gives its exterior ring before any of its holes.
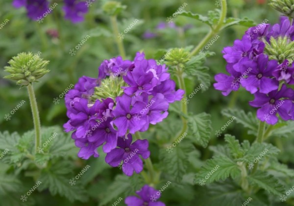
{"type": "Polygon", "coordinates": [[[88,12],[86,1],[64,0],[64,4],[65,19],[71,20],[73,23],[84,21],[83,15],[88,12]]]}

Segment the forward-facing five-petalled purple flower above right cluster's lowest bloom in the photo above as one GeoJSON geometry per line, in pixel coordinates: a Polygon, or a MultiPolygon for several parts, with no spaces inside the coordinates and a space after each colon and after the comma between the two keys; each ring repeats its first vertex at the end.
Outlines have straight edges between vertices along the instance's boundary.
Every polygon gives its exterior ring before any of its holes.
{"type": "Polygon", "coordinates": [[[240,70],[242,73],[247,73],[247,78],[241,80],[241,84],[251,94],[259,91],[267,94],[270,91],[276,90],[279,87],[279,82],[271,78],[272,72],[277,68],[278,63],[275,60],[270,60],[265,54],[257,56],[257,60],[251,61],[248,58],[242,61],[240,70]]]}

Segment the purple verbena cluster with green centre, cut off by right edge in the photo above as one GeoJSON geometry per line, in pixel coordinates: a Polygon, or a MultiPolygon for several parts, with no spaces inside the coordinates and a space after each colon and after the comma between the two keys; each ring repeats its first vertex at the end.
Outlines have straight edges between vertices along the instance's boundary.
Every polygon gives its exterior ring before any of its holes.
{"type": "Polygon", "coordinates": [[[214,87],[224,96],[243,86],[255,99],[257,117],[274,125],[277,114],[294,120],[294,26],[287,17],[280,24],[261,24],[249,28],[242,40],[223,49],[229,75],[215,76],[214,87]]]}

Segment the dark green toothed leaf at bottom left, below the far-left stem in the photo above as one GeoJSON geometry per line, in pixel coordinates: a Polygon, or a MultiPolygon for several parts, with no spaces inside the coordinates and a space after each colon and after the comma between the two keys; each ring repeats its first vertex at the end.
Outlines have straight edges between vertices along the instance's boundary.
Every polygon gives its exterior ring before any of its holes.
{"type": "Polygon", "coordinates": [[[38,181],[42,183],[38,187],[40,191],[49,188],[51,195],[59,194],[65,196],[68,200],[73,202],[79,200],[81,202],[87,201],[88,197],[86,190],[80,186],[78,180],[75,185],[71,185],[69,181],[74,176],[73,166],[70,161],[57,161],[49,169],[44,169],[38,181]]]}

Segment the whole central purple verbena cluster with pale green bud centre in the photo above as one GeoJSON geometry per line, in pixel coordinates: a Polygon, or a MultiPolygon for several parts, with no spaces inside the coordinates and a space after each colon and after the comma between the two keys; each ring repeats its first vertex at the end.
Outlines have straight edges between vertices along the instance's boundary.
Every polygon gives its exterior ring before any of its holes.
{"type": "Polygon", "coordinates": [[[133,61],[121,56],[104,60],[98,78],[81,77],[65,96],[65,131],[80,148],[78,156],[98,157],[103,145],[105,161],[121,166],[131,176],[143,170],[140,155],[149,157],[147,140],[132,141],[132,134],[143,132],[168,116],[169,104],[180,101],[183,90],[175,90],[168,68],[137,53],[133,61]]]}

